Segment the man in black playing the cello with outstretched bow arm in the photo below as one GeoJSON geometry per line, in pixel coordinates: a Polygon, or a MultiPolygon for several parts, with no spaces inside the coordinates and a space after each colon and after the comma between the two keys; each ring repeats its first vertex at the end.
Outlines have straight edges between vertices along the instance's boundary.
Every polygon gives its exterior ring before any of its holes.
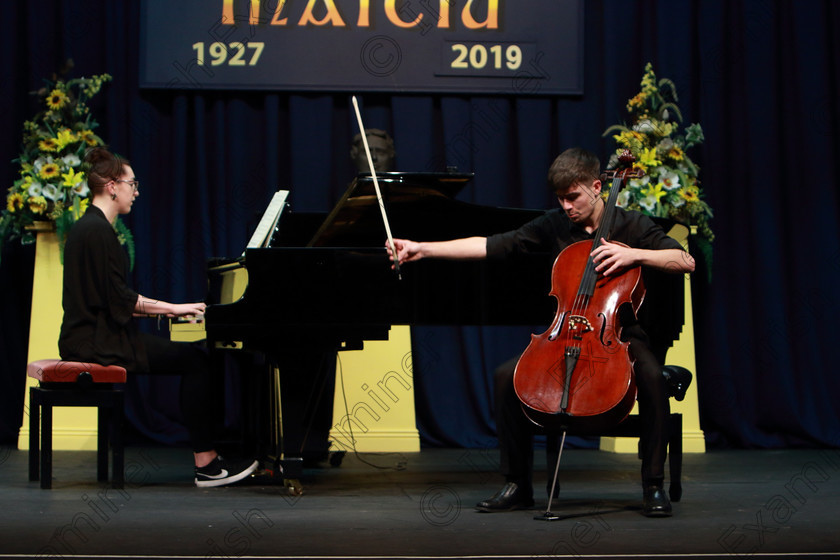
{"type": "MultiPolygon", "coordinates": [[[[597,156],[580,148],[566,150],[548,172],[549,187],[561,208],[550,210],[517,230],[489,237],[440,242],[395,239],[396,258],[403,264],[424,258],[506,259],[529,252],[550,252],[556,256],[572,243],[593,239],[605,209],[600,174],[597,156]]],[[[693,272],[695,266],[694,258],[649,217],[622,208],[616,208],[611,240],[604,240],[592,257],[596,272],[603,275],[621,274],[636,266],[644,267],[643,271],[648,268],[683,274],[693,272]]],[[[393,255],[391,258],[394,260],[393,255]]],[[[632,311],[622,313],[621,322],[622,339],[629,342],[635,360],[633,372],[642,423],[642,512],[648,517],[667,517],[672,509],[663,490],[670,414],[662,375],[664,356],[655,356],[644,326],[632,311]]],[[[495,372],[495,417],[505,484],[491,498],[476,505],[483,512],[512,511],[534,504],[534,425],[525,417],[514,392],[516,362],[517,359],[510,360],[495,372]]]]}

